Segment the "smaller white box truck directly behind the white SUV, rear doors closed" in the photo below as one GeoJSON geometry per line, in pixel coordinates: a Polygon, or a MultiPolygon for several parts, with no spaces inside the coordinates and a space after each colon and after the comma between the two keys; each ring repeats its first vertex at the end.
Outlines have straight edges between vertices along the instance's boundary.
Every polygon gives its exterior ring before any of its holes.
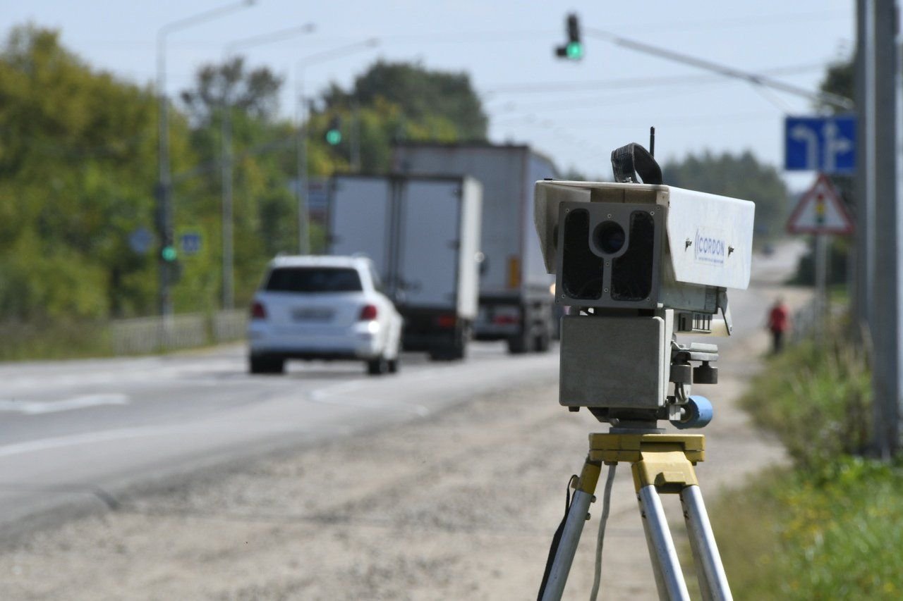
{"type": "Polygon", "coordinates": [[[339,175],[330,254],[366,254],[405,318],[405,350],[461,359],[478,311],[482,189],[461,176],[339,175]]]}

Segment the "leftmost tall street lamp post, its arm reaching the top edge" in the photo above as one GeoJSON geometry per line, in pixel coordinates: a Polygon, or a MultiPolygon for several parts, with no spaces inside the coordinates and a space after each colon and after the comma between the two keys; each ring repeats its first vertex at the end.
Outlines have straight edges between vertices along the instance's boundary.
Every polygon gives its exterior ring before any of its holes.
{"type": "Polygon", "coordinates": [[[169,104],[166,97],[166,38],[172,32],[187,29],[192,25],[206,23],[220,16],[234,13],[239,9],[254,5],[255,0],[241,0],[199,14],[191,15],[178,21],[166,23],[157,30],[157,96],[159,109],[157,111],[158,131],[158,176],[155,190],[156,197],[156,227],[160,237],[160,249],[157,258],[160,262],[160,314],[163,317],[172,315],[172,299],[170,298],[171,257],[164,257],[170,246],[174,243],[172,231],[172,175],[170,174],[169,159],[169,104]]]}

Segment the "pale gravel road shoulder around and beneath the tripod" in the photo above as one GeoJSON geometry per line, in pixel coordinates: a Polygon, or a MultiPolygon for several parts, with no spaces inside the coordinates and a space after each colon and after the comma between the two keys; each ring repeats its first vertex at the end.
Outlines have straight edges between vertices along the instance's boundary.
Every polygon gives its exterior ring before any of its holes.
{"type": "MultiPolygon", "coordinates": [[[[781,291],[794,304],[805,298],[781,291]]],[[[697,467],[710,498],[785,460],[735,407],[768,339],[731,342],[697,467]]],[[[558,406],[556,386],[512,387],[422,421],[122,496],[114,511],[0,551],[0,598],[534,598],[568,477],[587,434],[603,431],[587,411],[558,406]]],[[[599,511],[565,598],[589,596],[599,511]]],[[[666,512],[683,531],[676,499],[666,512]]],[[[656,598],[627,466],[612,495],[602,579],[600,598],[656,598]]]]}

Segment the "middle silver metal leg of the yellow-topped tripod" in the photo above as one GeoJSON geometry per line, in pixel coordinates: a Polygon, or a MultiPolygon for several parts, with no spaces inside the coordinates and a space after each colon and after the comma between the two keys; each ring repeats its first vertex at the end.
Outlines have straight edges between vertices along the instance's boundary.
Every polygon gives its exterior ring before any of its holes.
{"type": "Polygon", "coordinates": [[[652,569],[656,574],[659,598],[690,601],[690,594],[684,582],[684,572],[681,571],[677,560],[675,543],[671,539],[665,510],[662,508],[661,499],[658,498],[656,487],[643,486],[639,489],[637,498],[643,515],[643,529],[646,531],[652,569]]]}

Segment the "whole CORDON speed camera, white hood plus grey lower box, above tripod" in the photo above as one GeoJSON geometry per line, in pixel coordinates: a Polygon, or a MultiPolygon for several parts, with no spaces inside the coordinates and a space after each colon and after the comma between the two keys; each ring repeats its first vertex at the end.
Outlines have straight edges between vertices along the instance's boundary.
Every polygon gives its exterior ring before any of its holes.
{"type": "Polygon", "coordinates": [[[555,301],[571,308],[560,402],[601,421],[673,420],[690,384],[716,381],[709,363],[718,358],[714,345],[681,347],[675,334],[730,334],[727,289],[749,285],[754,203],[660,184],[556,180],[537,181],[535,199],[555,301]]]}

